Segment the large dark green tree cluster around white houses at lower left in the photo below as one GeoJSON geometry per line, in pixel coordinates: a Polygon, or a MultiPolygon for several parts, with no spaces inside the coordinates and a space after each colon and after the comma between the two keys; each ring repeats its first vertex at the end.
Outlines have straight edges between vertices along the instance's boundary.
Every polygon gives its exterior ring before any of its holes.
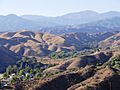
{"type": "Polygon", "coordinates": [[[18,77],[23,78],[24,80],[29,79],[30,77],[40,77],[42,72],[48,65],[37,62],[36,58],[24,57],[22,60],[18,61],[15,65],[10,65],[6,68],[4,73],[4,78],[8,78],[13,73],[15,74],[11,82],[15,82],[18,77]]]}

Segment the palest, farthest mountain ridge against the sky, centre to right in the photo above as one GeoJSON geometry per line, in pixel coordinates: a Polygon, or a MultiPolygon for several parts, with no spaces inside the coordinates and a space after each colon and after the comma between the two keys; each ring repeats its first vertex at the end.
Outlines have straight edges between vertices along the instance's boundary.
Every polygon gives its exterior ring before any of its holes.
{"type": "Polygon", "coordinates": [[[69,13],[57,17],[44,17],[36,15],[23,15],[22,18],[32,20],[35,22],[46,22],[55,25],[79,25],[97,20],[110,19],[113,17],[120,17],[120,12],[110,11],[106,13],[97,13],[94,11],[81,11],[77,13],[69,13]]]}

